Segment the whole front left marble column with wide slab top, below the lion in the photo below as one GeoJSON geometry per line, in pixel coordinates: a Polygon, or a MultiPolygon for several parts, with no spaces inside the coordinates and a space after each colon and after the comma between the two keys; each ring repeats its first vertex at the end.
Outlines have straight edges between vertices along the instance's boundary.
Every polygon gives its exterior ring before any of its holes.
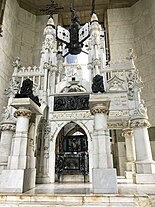
{"type": "Polygon", "coordinates": [[[16,131],[7,170],[2,171],[0,192],[22,193],[35,187],[34,140],[29,137],[29,120],[32,114],[39,115],[41,111],[29,98],[14,99],[12,106],[17,108],[16,131]]]}

